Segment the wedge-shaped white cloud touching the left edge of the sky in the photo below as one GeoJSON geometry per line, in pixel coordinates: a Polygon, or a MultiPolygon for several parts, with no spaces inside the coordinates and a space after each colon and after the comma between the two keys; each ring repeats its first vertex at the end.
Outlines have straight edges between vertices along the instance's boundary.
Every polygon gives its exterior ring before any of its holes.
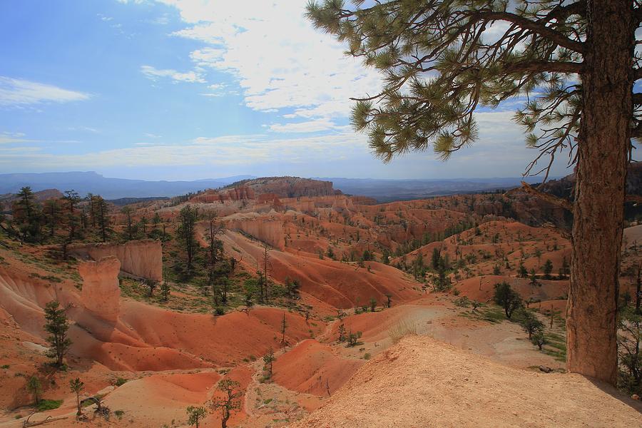
{"type": "Polygon", "coordinates": [[[85,101],[88,93],[70,91],[46,83],[0,76],[0,106],[28,106],[40,103],[85,101]]]}

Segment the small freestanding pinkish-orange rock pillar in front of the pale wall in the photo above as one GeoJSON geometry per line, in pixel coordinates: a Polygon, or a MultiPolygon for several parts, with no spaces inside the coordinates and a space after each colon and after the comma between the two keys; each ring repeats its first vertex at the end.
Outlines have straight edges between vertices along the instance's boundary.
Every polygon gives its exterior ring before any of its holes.
{"type": "Polygon", "coordinates": [[[78,272],[83,278],[83,305],[103,320],[118,320],[121,308],[121,289],[118,287],[120,270],[121,262],[113,256],[101,258],[97,262],[89,260],[78,265],[78,272]]]}

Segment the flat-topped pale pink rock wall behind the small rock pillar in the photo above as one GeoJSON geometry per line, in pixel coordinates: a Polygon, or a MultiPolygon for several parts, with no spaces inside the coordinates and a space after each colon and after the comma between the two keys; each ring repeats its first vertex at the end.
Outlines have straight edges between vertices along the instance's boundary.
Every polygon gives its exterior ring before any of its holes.
{"type": "Polygon", "coordinates": [[[148,280],[163,280],[163,248],[158,240],[73,245],[69,253],[91,260],[113,256],[121,262],[121,270],[125,273],[148,280]]]}

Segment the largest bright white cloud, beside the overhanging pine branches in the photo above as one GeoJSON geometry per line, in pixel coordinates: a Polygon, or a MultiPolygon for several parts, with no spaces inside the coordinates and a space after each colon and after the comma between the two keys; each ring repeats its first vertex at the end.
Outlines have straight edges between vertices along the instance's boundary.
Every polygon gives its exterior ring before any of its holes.
{"type": "MultiPolygon", "coordinates": [[[[188,28],[175,36],[203,41],[191,58],[233,75],[257,111],[293,108],[296,117],[347,117],[350,96],[376,93],[379,74],[346,57],[345,46],[313,29],[305,2],[158,0],[175,6],[188,28]]],[[[292,118],[292,116],[288,117],[292,118]]]]}

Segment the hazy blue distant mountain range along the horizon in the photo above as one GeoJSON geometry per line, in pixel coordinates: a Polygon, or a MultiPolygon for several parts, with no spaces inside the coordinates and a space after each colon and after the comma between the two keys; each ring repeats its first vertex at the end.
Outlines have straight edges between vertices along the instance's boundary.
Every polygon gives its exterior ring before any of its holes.
{"type": "MultiPolygon", "coordinates": [[[[95,172],[0,174],[0,194],[16,193],[21,187],[34,191],[46,189],[76,190],[80,195],[95,193],[105,199],[158,198],[185,195],[208,188],[220,188],[255,175],[206,178],[193,181],[148,181],[108,178],[95,172]]],[[[369,196],[388,202],[438,195],[474,193],[519,186],[522,178],[455,178],[425,180],[385,180],[377,178],[315,178],[332,181],[335,189],[350,195],[369,196]]],[[[529,179],[534,183],[536,179],[529,179]]]]}

